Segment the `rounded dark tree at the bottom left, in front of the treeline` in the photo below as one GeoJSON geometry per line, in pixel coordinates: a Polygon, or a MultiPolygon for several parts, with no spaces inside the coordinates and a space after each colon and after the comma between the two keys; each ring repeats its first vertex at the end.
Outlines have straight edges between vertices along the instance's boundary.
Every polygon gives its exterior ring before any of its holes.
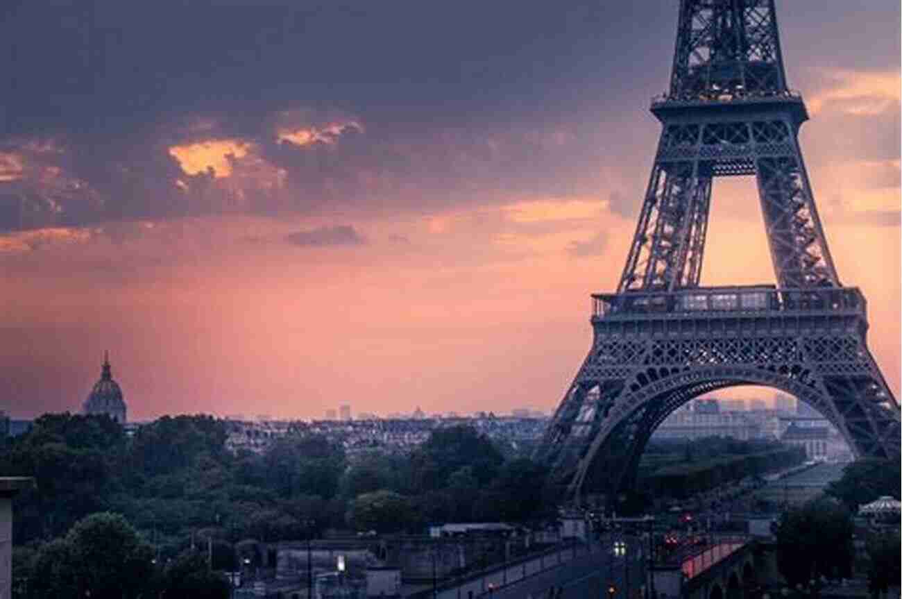
{"type": "Polygon", "coordinates": [[[152,559],[151,546],[122,516],[96,513],[41,548],[30,587],[37,597],[139,597],[151,580],[152,559]]]}

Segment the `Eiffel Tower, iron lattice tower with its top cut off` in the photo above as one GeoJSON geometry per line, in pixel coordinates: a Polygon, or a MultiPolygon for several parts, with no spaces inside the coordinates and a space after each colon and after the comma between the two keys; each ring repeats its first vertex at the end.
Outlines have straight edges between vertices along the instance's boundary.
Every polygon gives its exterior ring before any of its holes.
{"type": "Polygon", "coordinates": [[[662,132],[620,285],[592,296],[592,347],[536,457],[570,500],[610,501],[672,411],[737,385],[796,396],[856,456],[897,456],[899,404],[817,215],[774,0],[681,0],[670,88],[651,112],[662,132]],[[701,287],[712,181],[739,176],[757,180],[778,285],[701,287]]]}

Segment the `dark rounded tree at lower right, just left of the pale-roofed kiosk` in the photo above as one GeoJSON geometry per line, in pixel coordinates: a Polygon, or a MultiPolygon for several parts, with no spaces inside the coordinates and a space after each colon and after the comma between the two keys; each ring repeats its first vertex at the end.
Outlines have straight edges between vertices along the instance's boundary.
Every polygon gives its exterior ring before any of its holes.
{"type": "Polygon", "coordinates": [[[780,574],[790,585],[851,576],[852,532],[849,512],[831,500],[784,512],[776,530],[780,574]]]}

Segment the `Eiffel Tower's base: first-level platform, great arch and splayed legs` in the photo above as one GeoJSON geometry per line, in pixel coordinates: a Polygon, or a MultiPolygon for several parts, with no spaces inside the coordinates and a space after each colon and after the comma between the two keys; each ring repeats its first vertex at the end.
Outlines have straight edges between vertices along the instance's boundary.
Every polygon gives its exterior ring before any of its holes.
{"type": "Polygon", "coordinates": [[[857,456],[899,453],[898,404],[867,349],[858,290],[707,288],[603,297],[620,304],[593,318],[592,349],[538,455],[570,493],[586,485],[599,491],[600,483],[629,487],[667,415],[700,394],[736,385],[769,386],[807,402],[857,456]],[[658,297],[676,299],[658,304],[658,297]]]}

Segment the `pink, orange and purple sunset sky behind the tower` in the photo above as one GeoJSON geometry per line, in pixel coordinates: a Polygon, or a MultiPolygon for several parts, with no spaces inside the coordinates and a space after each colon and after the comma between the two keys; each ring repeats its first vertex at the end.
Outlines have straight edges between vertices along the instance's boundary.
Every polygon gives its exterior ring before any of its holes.
{"type": "MultiPolygon", "coordinates": [[[[0,409],[553,410],[614,290],[676,0],[0,6],[0,409]]],[[[842,283],[900,392],[897,0],[783,0],[842,283]]],[[[774,281],[716,180],[703,284],[774,281]]]]}

